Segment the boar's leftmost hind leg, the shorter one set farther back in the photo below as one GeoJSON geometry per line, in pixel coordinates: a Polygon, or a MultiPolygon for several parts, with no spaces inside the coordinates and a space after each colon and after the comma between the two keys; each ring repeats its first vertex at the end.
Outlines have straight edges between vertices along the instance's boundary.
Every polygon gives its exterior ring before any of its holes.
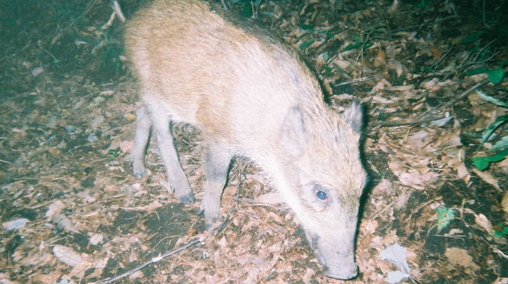
{"type": "Polygon", "coordinates": [[[146,114],[146,109],[140,107],[136,111],[136,133],[134,134],[134,147],[131,151],[132,171],[136,178],[143,178],[145,175],[145,153],[150,138],[151,121],[146,114]]]}

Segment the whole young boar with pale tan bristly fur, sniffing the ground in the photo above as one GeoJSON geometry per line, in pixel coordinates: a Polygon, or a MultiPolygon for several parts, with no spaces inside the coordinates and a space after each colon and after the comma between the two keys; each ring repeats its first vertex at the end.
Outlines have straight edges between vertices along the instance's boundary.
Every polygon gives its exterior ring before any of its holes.
{"type": "Polygon", "coordinates": [[[145,174],[152,127],[168,182],[181,202],[194,202],[169,128],[171,122],[192,124],[204,139],[207,226],[220,220],[230,160],[247,157],[293,209],[325,275],[353,278],[366,180],[360,107],[331,110],[293,50],[234,22],[198,0],[156,0],[128,21],[126,53],[144,104],[136,112],[134,175],[145,174]]]}

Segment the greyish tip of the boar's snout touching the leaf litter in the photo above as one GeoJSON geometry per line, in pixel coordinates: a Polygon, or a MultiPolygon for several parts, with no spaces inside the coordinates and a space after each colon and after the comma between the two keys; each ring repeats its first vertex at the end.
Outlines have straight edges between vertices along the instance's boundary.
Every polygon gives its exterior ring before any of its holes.
{"type": "Polygon", "coordinates": [[[318,251],[318,261],[325,266],[325,275],[330,278],[347,280],[355,278],[358,274],[358,266],[352,253],[350,256],[328,259],[327,262],[323,254],[318,251]]]}

